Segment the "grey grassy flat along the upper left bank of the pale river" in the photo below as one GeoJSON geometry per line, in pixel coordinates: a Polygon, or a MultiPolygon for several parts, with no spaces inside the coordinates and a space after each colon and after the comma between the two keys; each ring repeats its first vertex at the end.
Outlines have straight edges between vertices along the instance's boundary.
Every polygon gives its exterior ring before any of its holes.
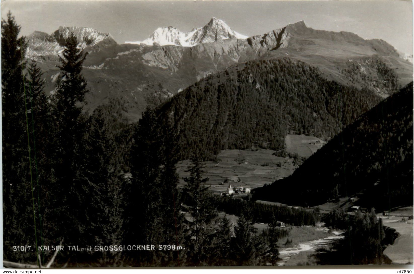
{"type": "Polygon", "coordinates": [[[297,245],[298,243],[318,240],[329,236],[332,236],[332,233],[323,230],[316,230],[315,226],[295,226],[291,230],[289,230],[289,236],[281,238],[279,239],[279,241],[277,241],[277,245],[279,245],[282,248],[292,247],[297,245]],[[288,238],[292,241],[292,243],[289,246],[285,246],[284,244],[286,243],[286,240],[288,238]]]}

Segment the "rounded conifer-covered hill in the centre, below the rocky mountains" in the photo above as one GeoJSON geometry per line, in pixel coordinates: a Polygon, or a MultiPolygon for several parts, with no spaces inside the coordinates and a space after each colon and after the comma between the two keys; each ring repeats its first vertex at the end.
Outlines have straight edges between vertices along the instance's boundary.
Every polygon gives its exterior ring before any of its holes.
{"type": "MultiPolygon", "coordinates": [[[[393,79],[394,80],[394,79],[393,79]]],[[[327,81],[308,64],[250,61],[209,76],[159,110],[178,131],[181,158],[224,149],[283,150],[288,133],[334,137],[378,104],[370,89],[327,81]]]]}

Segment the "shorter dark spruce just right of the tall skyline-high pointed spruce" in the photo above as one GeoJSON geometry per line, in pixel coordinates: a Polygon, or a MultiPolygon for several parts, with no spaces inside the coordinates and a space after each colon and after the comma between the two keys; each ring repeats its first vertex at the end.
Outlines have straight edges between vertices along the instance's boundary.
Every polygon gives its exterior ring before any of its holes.
{"type": "MultiPolygon", "coordinates": [[[[96,245],[108,242],[120,245],[123,239],[126,179],[118,161],[118,143],[111,132],[117,121],[113,121],[107,111],[106,106],[98,107],[88,122],[84,157],[88,162],[85,178],[90,197],[84,207],[89,220],[85,233],[87,238],[94,239],[96,245]]],[[[95,252],[93,255],[101,266],[116,265],[120,259],[120,253],[95,252]]]]}

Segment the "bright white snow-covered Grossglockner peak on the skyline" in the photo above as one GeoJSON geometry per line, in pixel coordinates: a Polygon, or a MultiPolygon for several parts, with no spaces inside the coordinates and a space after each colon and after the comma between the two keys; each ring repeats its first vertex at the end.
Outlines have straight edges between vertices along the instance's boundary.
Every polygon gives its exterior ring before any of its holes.
{"type": "Polygon", "coordinates": [[[230,27],[220,19],[213,17],[202,28],[192,29],[188,32],[169,26],[158,28],[152,35],[144,41],[125,42],[126,44],[142,44],[142,45],[181,45],[184,47],[192,47],[201,43],[211,43],[217,40],[225,39],[246,39],[244,36],[230,27]]]}

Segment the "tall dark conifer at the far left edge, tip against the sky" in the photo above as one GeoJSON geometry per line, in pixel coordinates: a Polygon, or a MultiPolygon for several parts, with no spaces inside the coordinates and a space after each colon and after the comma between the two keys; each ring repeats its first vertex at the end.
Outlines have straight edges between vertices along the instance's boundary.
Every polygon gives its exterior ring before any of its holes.
{"type": "Polygon", "coordinates": [[[37,236],[24,75],[27,43],[19,32],[8,12],[1,21],[3,250],[5,260],[36,262],[36,254],[12,250],[16,243],[34,245],[37,236]]]}

